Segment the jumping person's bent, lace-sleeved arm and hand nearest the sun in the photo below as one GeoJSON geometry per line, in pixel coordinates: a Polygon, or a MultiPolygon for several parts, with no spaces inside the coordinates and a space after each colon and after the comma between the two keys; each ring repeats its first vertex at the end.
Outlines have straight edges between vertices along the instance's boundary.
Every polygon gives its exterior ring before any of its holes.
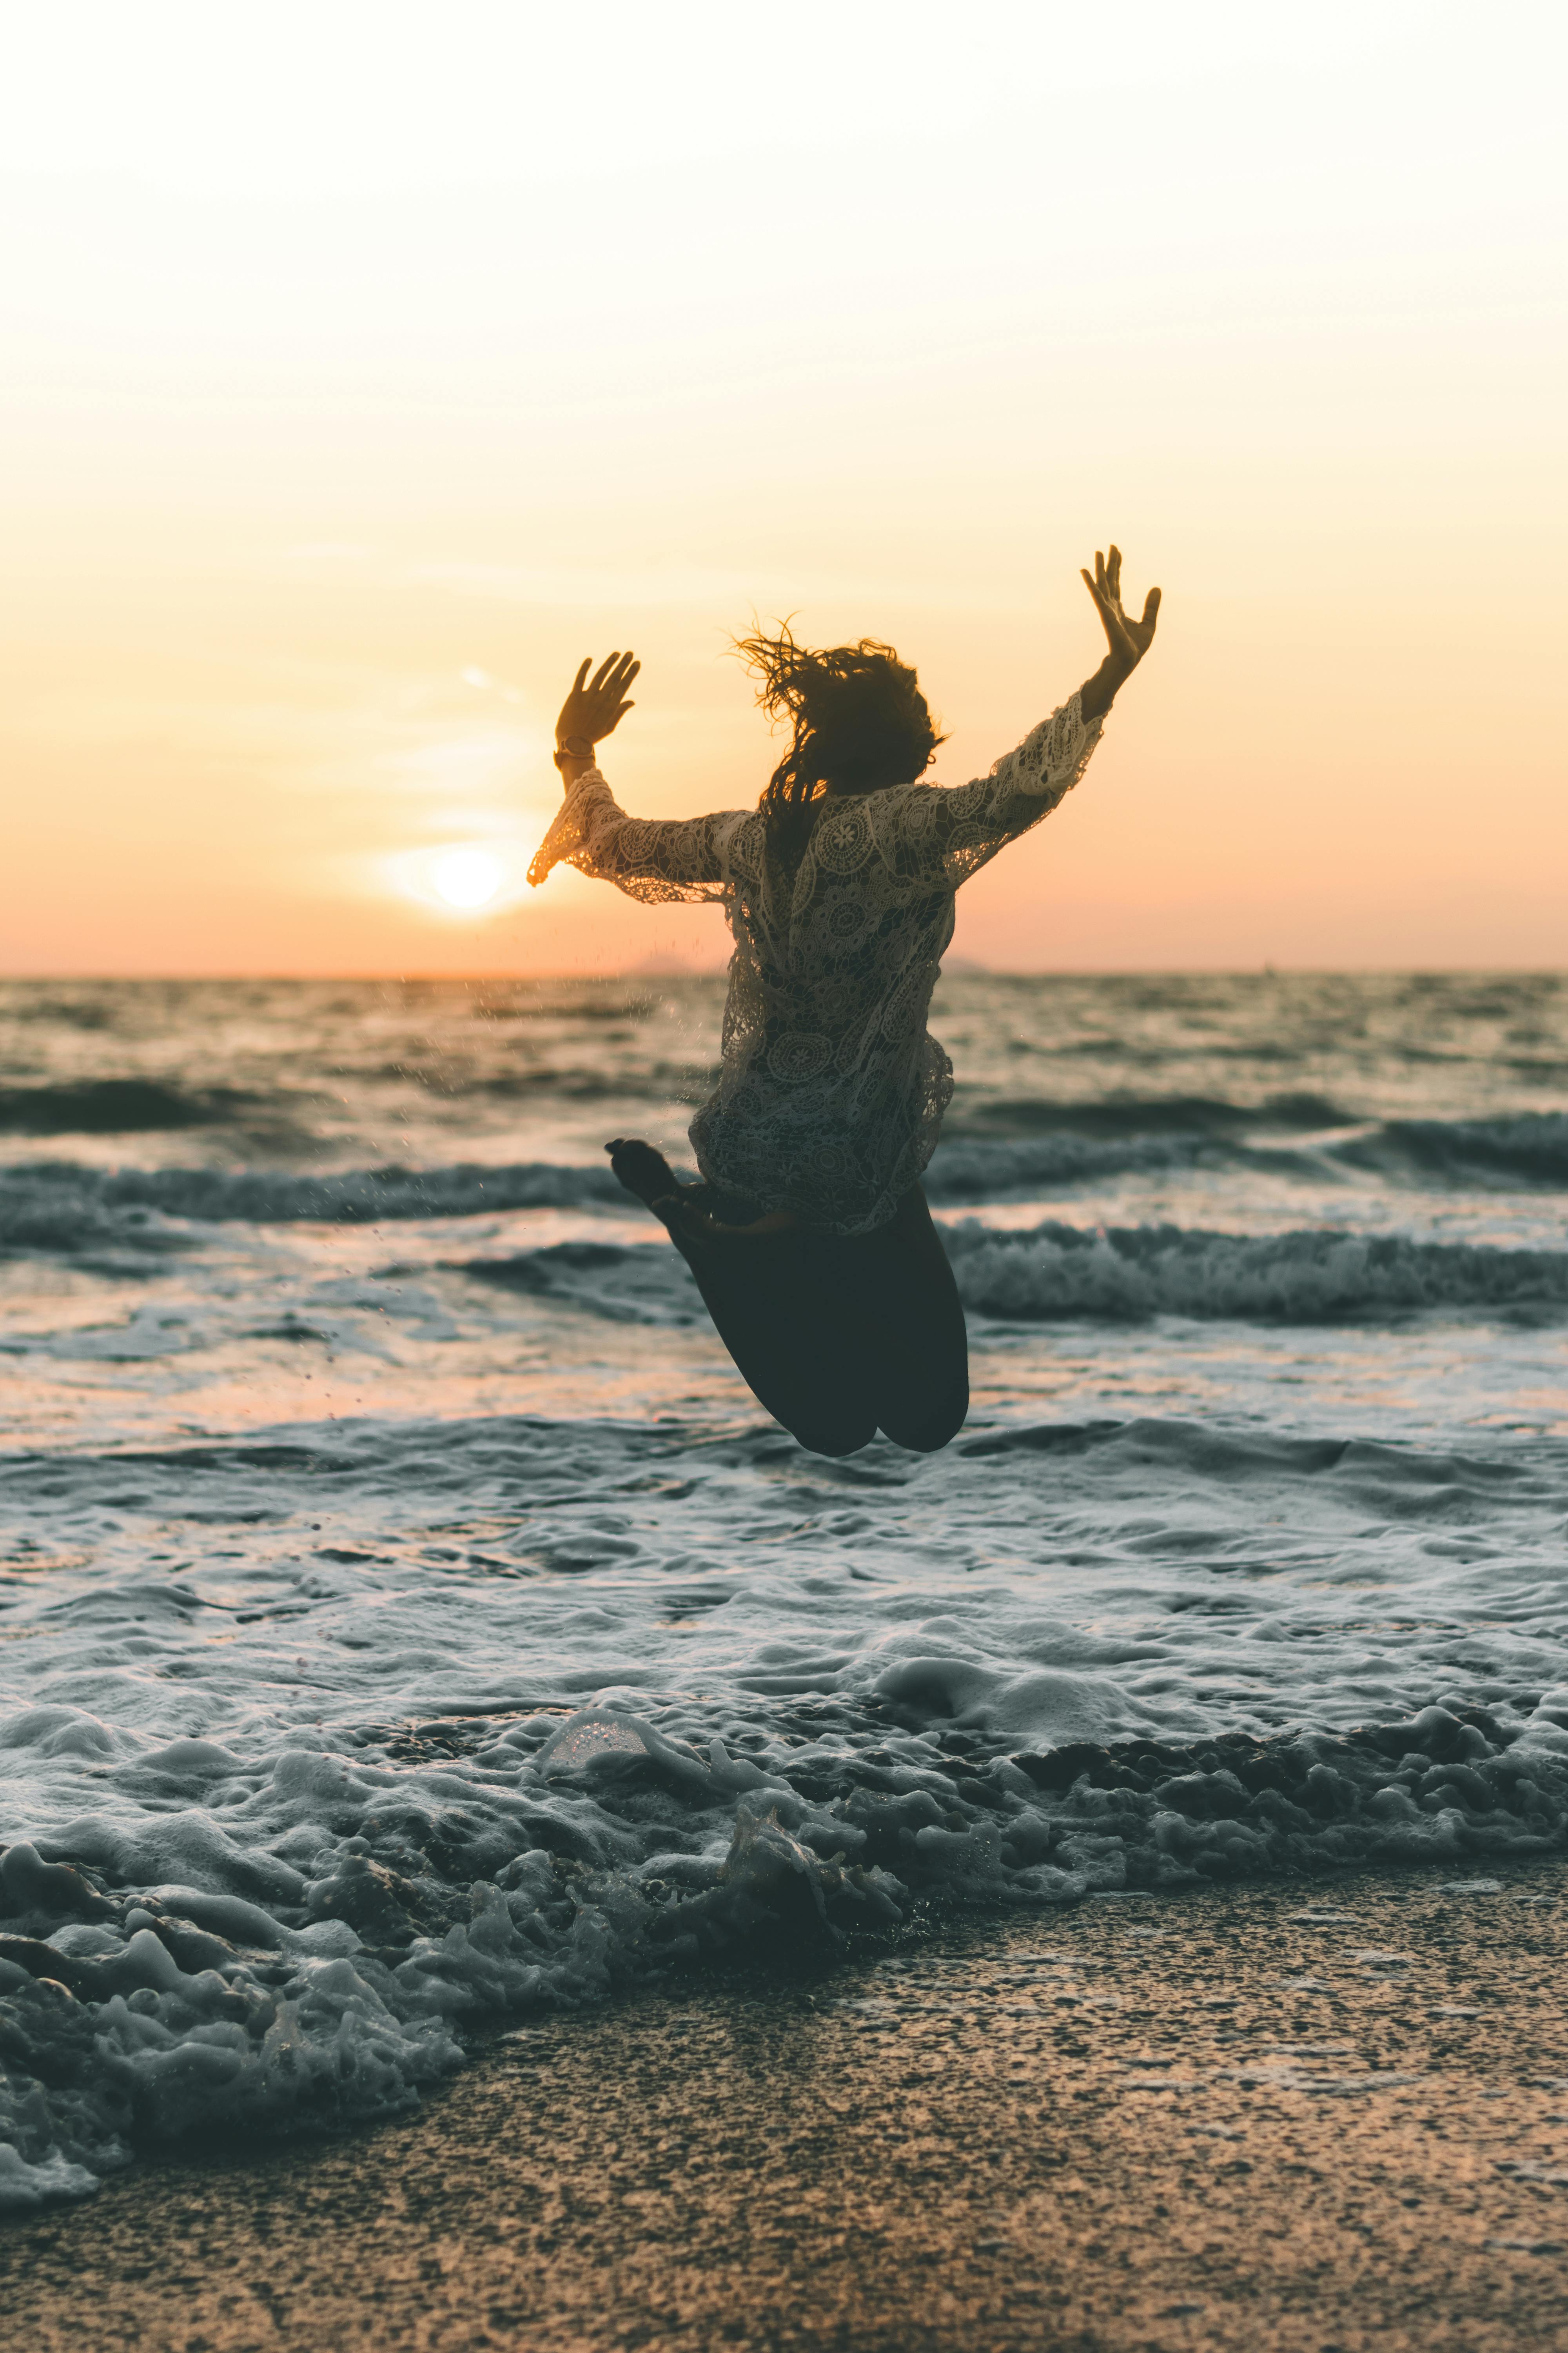
{"type": "Polygon", "coordinates": [[[552,866],[567,864],[632,899],[722,899],[722,845],[736,814],[646,819],[628,816],[616,805],[595,744],[614,734],[632,708],[625,689],[642,664],[632,654],[611,654],[588,680],[590,661],[576,673],[555,722],[555,765],[567,798],[534,852],[529,882],[538,885],[552,866]]]}

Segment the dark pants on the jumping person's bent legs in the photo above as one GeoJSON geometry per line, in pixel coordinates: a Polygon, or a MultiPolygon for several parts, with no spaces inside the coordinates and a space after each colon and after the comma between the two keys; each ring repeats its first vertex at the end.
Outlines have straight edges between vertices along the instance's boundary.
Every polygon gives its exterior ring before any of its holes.
{"type": "MultiPolygon", "coordinates": [[[[710,1188],[689,1200],[724,1221],[757,1214],[710,1188]]],[[[964,1306],[919,1186],[875,1233],[670,1240],[752,1395],[802,1447],[853,1454],[884,1431],[933,1454],[964,1426],[964,1306]]]]}

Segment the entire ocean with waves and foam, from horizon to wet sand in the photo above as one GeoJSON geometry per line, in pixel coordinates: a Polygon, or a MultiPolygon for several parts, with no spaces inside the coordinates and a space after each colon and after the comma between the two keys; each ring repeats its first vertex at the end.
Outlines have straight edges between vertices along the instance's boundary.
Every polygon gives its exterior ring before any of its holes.
{"type": "Polygon", "coordinates": [[[947,976],[973,1409],[844,1461],[602,1155],[719,1014],[0,986],[0,2205],[952,1904],[1561,1852],[1568,976],[947,976]]]}

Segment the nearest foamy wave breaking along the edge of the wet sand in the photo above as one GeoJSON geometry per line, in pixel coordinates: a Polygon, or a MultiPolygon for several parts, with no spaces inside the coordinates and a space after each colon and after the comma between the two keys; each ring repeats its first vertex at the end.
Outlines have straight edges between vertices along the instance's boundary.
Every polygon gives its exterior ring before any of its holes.
{"type": "Polygon", "coordinates": [[[14,1762],[118,1762],[155,1809],[0,1852],[0,2207],[87,2195],[219,2118],[395,2115],[501,2019],[710,1955],[830,1955],[919,1906],[1467,1871],[1568,1840],[1568,1694],[1507,1722],[1455,1701],[1359,1732],[1016,1748],[952,1729],[964,1673],[900,1659],[858,1722],[804,1732],[590,1706],[296,1729],[266,1760],[14,1718],[14,1762]]]}

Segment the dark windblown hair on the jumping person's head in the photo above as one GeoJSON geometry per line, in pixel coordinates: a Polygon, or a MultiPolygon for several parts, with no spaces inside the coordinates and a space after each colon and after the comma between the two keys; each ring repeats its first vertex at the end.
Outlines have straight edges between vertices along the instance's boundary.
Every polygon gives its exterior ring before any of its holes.
{"type": "Polygon", "coordinates": [[[757,802],[769,852],[788,868],[804,856],[813,802],[827,784],[839,793],[914,784],[947,741],[931,725],[910,664],[877,638],[809,647],[780,621],[776,635],[752,631],[733,649],[757,673],[757,701],[769,718],[790,720],[790,748],[757,802]]]}

